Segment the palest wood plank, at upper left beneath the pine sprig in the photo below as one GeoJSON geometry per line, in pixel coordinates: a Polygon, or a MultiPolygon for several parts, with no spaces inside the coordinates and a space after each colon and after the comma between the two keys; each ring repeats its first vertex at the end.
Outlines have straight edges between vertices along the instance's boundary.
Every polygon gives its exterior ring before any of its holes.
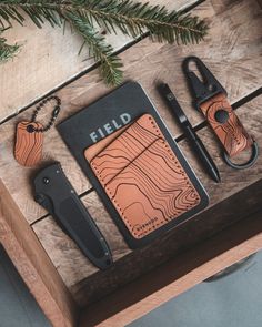
{"type": "MultiPolygon", "coordinates": [[[[141,2],[147,1],[141,0],[141,2]]],[[[150,0],[149,2],[180,9],[195,0],[150,0]]],[[[102,29],[99,31],[102,32],[102,29]]],[[[26,27],[14,23],[13,29],[4,32],[4,37],[9,43],[22,44],[22,49],[12,61],[0,65],[0,122],[93,65],[92,59],[85,60],[87,48],[78,55],[82,39],[71,33],[69,27],[63,34],[62,28],[53,29],[46,23],[42,29],[37,29],[30,20],[27,20],[26,27]],[[13,96],[14,90],[16,96],[13,96]]],[[[107,41],[111,42],[115,50],[120,50],[132,39],[118,33],[118,35],[107,35],[107,41]]]]}

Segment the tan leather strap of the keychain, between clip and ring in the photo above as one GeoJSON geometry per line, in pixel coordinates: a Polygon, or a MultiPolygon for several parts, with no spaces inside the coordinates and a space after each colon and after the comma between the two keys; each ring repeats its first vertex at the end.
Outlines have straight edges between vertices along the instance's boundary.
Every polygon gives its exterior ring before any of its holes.
{"type": "Polygon", "coordinates": [[[200,108],[229,156],[236,155],[253,144],[252,137],[234,113],[225,94],[219,93],[203,102],[200,108]],[[229,113],[229,119],[223,124],[215,120],[215,113],[221,109],[229,113]]]}

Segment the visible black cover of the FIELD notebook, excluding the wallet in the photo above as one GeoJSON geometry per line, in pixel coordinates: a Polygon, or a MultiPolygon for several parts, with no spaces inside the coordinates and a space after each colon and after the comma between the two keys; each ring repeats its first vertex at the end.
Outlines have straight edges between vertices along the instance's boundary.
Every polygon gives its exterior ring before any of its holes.
{"type": "Polygon", "coordinates": [[[208,195],[202,184],[185,161],[184,156],[179,150],[178,144],[172,139],[172,135],[169,133],[165,124],[159,116],[159,113],[154,109],[153,104],[140,84],[135,82],[123,84],[110,94],[60,123],[58,125],[58,130],[71,153],[74,155],[83,172],[92,183],[94,190],[98,192],[108,212],[131,248],[135,248],[149,243],[158,235],[161,235],[162,232],[168,231],[171,227],[174,227],[185,219],[192,217],[208,205],[208,195]],[[142,238],[135,238],[130,233],[129,228],[119,215],[118,210],[104,191],[103,185],[93,173],[92,167],[84,156],[84,152],[89,146],[99,144],[98,142],[102,139],[113,134],[114,131],[123,127],[124,125],[134,122],[145,113],[153,116],[157,125],[161,130],[161,134],[164,136],[168,145],[175,154],[175,157],[180,162],[185,174],[189,176],[194,190],[196,190],[200,200],[198,205],[182,213],[170,224],[160,226],[154,232],[145,235],[142,238]]]}

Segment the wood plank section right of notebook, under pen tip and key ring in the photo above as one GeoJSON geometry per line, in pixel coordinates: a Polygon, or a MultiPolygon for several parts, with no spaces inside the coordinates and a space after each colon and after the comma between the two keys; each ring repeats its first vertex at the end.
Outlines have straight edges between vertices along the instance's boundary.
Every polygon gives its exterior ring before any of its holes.
{"type": "MultiPolygon", "coordinates": [[[[261,134],[261,111],[260,106],[262,104],[262,95],[253,99],[251,102],[243,104],[241,108],[236,110],[236,114],[240,120],[244,123],[246,131],[253,135],[256,140],[259,147],[262,146],[262,134],[261,134]]],[[[210,205],[214,205],[218,202],[235,194],[240,190],[244,190],[250,184],[259,181],[262,177],[262,157],[259,156],[258,162],[255,165],[249,170],[244,171],[235,171],[228,166],[221,156],[221,152],[223,149],[221,147],[219,141],[215,140],[213,132],[209,126],[200,130],[198,135],[206,145],[208,151],[211,153],[215,164],[219,167],[221,183],[215,185],[212,181],[205,182],[208,175],[203,171],[201,164],[195,161],[195,156],[191,151],[187,140],[180,142],[180,146],[182,147],[183,153],[187,155],[187,159],[191,165],[193,165],[194,171],[199,178],[203,181],[208,193],[210,194],[210,205]],[[222,191],[223,190],[223,191],[222,191]]],[[[250,151],[244,151],[240,155],[236,156],[235,161],[238,162],[245,162],[250,156],[250,151]]]]}

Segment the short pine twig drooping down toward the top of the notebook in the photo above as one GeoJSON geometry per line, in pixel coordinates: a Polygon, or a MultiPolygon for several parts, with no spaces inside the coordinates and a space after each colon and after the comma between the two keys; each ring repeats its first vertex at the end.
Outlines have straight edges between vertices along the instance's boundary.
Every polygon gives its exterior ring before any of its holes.
{"type": "Polygon", "coordinates": [[[121,60],[113,54],[113,48],[107,44],[104,38],[101,37],[90,25],[84,16],[67,12],[66,19],[70,21],[71,25],[77,32],[82,35],[84,42],[83,45],[89,47],[89,54],[94,58],[97,62],[100,62],[100,72],[104,76],[108,85],[118,85],[122,81],[121,60]]]}

